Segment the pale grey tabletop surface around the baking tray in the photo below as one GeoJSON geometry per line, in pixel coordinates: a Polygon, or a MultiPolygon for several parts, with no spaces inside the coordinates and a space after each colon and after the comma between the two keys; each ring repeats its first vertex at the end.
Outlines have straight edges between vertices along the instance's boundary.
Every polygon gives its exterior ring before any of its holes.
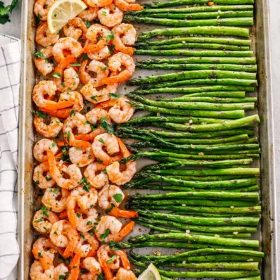
{"type": "MultiPolygon", "coordinates": [[[[4,1],[6,3],[10,1],[4,1]]],[[[19,0],[19,2],[21,2],[19,0]]],[[[0,25],[0,33],[8,34],[20,38],[20,10],[21,3],[13,10],[10,16],[11,22],[0,25]]],[[[269,1],[270,13],[270,33],[272,51],[272,85],[273,85],[273,110],[274,110],[274,151],[275,151],[275,171],[276,171],[276,203],[280,202],[280,0],[269,1]]],[[[278,216],[278,248],[279,248],[279,274],[280,274],[280,203],[277,205],[278,216]]]]}

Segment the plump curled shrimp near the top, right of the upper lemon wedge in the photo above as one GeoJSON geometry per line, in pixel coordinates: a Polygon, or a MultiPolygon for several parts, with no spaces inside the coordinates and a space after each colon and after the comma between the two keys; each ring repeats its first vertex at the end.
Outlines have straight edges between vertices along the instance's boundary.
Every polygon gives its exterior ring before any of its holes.
{"type": "Polygon", "coordinates": [[[123,12],[114,5],[109,5],[101,8],[97,12],[99,21],[106,27],[114,27],[123,20],[123,12]]]}

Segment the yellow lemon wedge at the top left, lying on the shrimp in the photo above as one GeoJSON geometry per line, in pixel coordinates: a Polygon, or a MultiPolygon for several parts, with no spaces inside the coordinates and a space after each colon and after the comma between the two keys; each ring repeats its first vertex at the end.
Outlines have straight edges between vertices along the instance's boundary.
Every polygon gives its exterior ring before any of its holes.
{"type": "Polygon", "coordinates": [[[87,5],[81,0],[57,0],[48,11],[48,29],[57,33],[69,20],[73,20],[87,5]]]}

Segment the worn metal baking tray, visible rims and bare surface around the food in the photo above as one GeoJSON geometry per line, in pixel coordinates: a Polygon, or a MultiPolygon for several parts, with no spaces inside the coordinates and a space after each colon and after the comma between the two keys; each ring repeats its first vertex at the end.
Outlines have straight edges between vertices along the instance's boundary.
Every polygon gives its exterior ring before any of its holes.
{"type": "MultiPolygon", "coordinates": [[[[19,174],[18,174],[18,243],[20,246],[20,260],[18,262],[18,280],[29,279],[29,268],[34,258],[31,246],[34,241],[34,230],[31,226],[34,216],[34,186],[33,175],[33,146],[36,142],[36,133],[33,127],[33,104],[31,94],[36,84],[36,69],[33,57],[35,52],[36,17],[33,13],[35,0],[22,0],[22,66],[20,84],[20,134],[19,134],[19,174]]],[[[259,139],[262,148],[260,158],[260,195],[262,202],[262,219],[258,235],[261,240],[261,249],[265,252],[262,262],[262,279],[276,280],[276,190],[274,182],[274,133],[272,111],[272,81],[270,66],[269,40],[269,0],[255,0],[255,24],[251,28],[253,51],[258,63],[258,113],[261,123],[259,139]]],[[[140,26],[141,31],[151,27],[140,26]]],[[[139,31],[139,29],[137,30],[139,31]]],[[[134,76],[139,76],[137,70],[134,76]]],[[[143,71],[141,74],[151,75],[153,71],[143,71]]],[[[125,85],[119,92],[126,92],[125,85]]],[[[139,162],[139,166],[143,162],[139,162]]],[[[141,232],[143,234],[144,232],[141,232]]],[[[148,253],[148,251],[144,251],[148,253]]]]}

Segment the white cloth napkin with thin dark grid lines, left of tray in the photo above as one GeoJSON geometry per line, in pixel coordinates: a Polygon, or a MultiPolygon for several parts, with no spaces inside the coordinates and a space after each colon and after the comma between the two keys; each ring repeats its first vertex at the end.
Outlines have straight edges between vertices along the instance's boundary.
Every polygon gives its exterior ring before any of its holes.
{"type": "Polygon", "coordinates": [[[0,280],[16,279],[15,266],[20,255],[17,242],[19,89],[20,40],[0,34],[0,280]]]}

